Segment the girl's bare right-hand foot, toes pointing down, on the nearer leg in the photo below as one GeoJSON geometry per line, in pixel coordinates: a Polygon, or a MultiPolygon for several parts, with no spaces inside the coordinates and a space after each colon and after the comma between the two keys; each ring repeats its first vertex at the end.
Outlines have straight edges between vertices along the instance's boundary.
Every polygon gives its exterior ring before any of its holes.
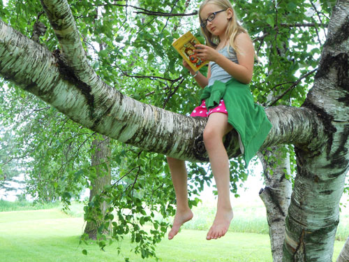
{"type": "Polygon", "coordinates": [[[211,240],[223,237],[223,235],[228,231],[232,217],[234,217],[232,209],[217,210],[214,224],[209,228],[209,233],[207,233],[206,239],[211,240]]]}

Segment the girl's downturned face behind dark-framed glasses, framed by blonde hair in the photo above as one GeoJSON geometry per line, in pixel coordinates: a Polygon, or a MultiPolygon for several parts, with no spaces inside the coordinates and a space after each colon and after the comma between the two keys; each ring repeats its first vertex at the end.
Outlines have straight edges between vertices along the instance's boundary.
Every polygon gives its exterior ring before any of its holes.
{"type": "MultiPolygon", "coordinates": [[[[220,6],[217,6],[214,3],[207,3],[207,5],[205,5],[201,10],[201,13],[200,13],[201,20],[205,21],[207,20],[209,15],[221,10],[222,8],[220,6]]],[[[214,36],[219,36],[221,38],[222,36],[225,35],[225,30],[228,27],[228,22],[231,17],[232,17],[232,12],[230,9],[217,13],[214,16],[214,20],[212,21],[207,20],[206,28],[211,34],[213,34],[214,36]]]]}

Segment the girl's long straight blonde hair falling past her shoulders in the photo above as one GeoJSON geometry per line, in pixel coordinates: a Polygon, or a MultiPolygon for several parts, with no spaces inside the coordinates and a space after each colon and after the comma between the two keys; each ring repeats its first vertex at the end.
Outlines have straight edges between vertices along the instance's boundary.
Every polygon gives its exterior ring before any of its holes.
{"type": "MultiPolygon", "coordinates": [[[[246,29],[244,29],[244,27],[242,27],[239,24],[239,22],[237,21],[237,15],[235,13],[234,8],[232,7],[232,4],[228,0],[205,0],[201,4],[200,9],[199,9],[200,24],[202,22],[202,19],[201,19],[202,8],[204,8],[204,6],[206,6],[208,3],[213,3],[216,6],[221,7],[222,10],[227,10],[228,8],[230,8],[232,10],[232,17],[228,21],[228,27],[226,29],[227,36],[230,36],[228,50],[229,50],[229,47],[231,46],[235,50],[235,52],[240,53],[239,48],[237,47],[237,45],[235,45],[235,38],[240,33],[245,33],[245,34],[248,34],[248,33],[247,33],[246,29]]],[[[218,43],[219,43],[219,37],[211,34],[207,30],[207,27],[204,27],[204,28],[201,27],[201,31],[202,31],[202,34],[204,34],[204,36],[206,38],[207,45],[211,46],[212,48],[216,48],[218,43]]]]}

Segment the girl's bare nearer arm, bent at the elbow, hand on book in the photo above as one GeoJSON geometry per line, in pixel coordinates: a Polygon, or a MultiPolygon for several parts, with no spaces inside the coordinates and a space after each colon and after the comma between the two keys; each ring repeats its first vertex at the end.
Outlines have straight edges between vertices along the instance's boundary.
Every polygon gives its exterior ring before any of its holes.
{"type": "Polygon", "coordinates": [[[253,75],[255,54],[253,43],[247,34],[239,34],[235,38],[235,43],[240,51],[239,54],[237,54],[237,61],[239,61],[239,64],[230,61],[223,54],[218,53],[213,48],[209,48],[207,45],[197,45],[200,49],[195,50],[195,52],[198,52],[197,56],[202,59],[216,62],[216,64],[221,66],[221,68],[227,71],[236,80],[248,84],[251,82],[253,75]]]}

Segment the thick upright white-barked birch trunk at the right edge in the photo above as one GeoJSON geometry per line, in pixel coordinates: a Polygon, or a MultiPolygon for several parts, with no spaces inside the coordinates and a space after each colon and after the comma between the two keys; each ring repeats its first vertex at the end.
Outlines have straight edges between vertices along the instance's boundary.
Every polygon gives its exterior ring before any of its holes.
{"type": "Polygon", "coordinates": [[[304,107],[327,133],[322,148],[297,145],[297,177],[286,218],[283,261],[332,261],[339,201],[349,166],[349,1],[339,0],[304,107]]]}

